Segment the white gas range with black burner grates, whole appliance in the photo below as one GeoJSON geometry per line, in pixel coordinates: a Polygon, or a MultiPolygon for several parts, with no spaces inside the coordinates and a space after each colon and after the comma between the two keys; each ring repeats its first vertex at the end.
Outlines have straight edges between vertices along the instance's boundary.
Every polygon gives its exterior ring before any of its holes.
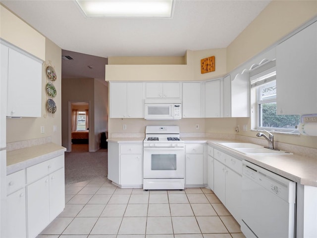
{"type": "Polygon", "coordinates": [[[143,189],[184,189],[185,146],[178,126],[147,126],[143,189]]]}

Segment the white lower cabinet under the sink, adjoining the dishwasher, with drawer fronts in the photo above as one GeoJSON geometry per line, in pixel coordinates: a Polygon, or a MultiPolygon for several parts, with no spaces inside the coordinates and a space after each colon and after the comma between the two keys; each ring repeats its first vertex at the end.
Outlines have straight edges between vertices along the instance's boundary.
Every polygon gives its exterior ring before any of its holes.
{"type": "Polygon", "coordinates": [[[214,149],[213,192],[241,223],[242,162],[214,149]]]}

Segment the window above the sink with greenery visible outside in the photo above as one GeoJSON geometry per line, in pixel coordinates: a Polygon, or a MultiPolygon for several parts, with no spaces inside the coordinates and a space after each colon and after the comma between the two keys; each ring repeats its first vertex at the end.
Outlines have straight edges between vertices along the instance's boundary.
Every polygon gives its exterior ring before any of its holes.
{"type": "Polygon", "coordinates": [[[260,130],[295,132],[300,115],[276,115],[276,71],[265,70],[251,78],[253,128],[260,130]]]}

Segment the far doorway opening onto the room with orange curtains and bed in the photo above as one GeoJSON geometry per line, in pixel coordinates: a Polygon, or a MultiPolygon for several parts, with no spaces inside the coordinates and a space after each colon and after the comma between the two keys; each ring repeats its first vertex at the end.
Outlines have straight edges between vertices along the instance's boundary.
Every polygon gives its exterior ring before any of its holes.
{"type": "Polygon", "coordinates": [[[91,143],[91,117],[89,101],[68,102],[68,144],[69,152],[87,152],[91,143]]]}

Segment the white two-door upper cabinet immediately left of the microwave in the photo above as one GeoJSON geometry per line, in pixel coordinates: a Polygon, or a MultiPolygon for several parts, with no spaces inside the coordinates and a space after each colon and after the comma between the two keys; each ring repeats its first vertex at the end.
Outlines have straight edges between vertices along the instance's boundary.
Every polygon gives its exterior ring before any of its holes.
{"type": "Polygon", "coordinates": [[[110,118],[143,118],[143,83],[110,83],[110,118]]]}

